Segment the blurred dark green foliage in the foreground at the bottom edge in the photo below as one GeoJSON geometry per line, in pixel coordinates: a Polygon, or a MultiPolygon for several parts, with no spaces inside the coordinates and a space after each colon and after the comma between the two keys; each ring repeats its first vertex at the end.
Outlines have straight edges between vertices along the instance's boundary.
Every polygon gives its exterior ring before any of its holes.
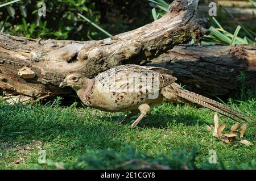
{"type": "Polygon", "coordinates": [[[164,154],[154,156],[133,146],[121,148],[121,153],[113,149],[88,151],[77,162],[66,164],[66,169],[197,169],[195,157],[197,150],[188,153],[186,149],[171,153],[171,158],[164,154]]]}

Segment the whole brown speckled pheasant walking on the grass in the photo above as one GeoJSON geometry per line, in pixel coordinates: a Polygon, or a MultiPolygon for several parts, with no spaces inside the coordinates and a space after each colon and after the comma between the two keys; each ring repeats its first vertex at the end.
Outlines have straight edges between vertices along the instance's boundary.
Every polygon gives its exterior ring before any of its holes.
{"type": "Polygon", "coordinates": [[[121,65],[106,70],[93,79],[80,73],[68,73],[60,87],[72,87],[86,106],[109,112],[130,111],[130,115],[123,121],[139,113],[131,128],[137,127],[150,108],[161,102],[196,103],[239,123],[251,119],[215,100],[184,90],[175,83],[176,80],[168,69],[121,65]]]}

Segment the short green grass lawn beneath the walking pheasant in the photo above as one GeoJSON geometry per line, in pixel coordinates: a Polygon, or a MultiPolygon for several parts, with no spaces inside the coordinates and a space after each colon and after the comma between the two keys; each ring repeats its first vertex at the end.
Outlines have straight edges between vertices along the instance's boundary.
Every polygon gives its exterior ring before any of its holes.
{"type": "MultiPolygon", "coordinates": [[[[224,144],[207,132],[205,125],[213,124],[214,112],[186,105],[160,104],[151,110],[137,129],[130,123],[118,125],[125,113],[108,113],[93,108],[61,107],[53,103],[11,106],[0,100],[0,169],[38,168],[38,151],[46,150],[47,159],[73,163],[88,150],[111,148],[117,153],[132,145],[149,155],[179,151],[197,145],[199,159],[208,160],[209,150],[216,150],[225,165],[238,167],[255,158],[255,144],[224,144]],[[19,161],[19,163],[15,163],[19,161]]],[[[256,99],[229,106],[256,116],[256,99]]],[[[224,116],[230,128],[234,123],[224,116]]],[[[135,119],[135,118],[134,118],[135,119]]],[[[254,142],[254,128],[247,128],[245,139],[254,142]]],[[[43,169],[54,169],[42,164],[43,169]]]]}

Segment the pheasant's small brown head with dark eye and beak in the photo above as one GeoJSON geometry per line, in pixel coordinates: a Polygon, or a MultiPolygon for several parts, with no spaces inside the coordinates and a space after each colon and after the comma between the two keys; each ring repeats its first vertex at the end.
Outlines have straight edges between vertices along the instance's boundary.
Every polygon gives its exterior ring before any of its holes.
{"type": "Polygon", "coordinates": [[[84,77],[79,73],[68,73],[65,77],[64,81],[60,83],[60,87],[72,87],[75,91],[80,90],[81,88],[86,86],[88,82],[88,78],[84,77]]]}

